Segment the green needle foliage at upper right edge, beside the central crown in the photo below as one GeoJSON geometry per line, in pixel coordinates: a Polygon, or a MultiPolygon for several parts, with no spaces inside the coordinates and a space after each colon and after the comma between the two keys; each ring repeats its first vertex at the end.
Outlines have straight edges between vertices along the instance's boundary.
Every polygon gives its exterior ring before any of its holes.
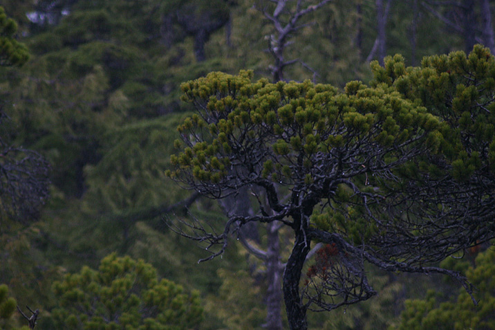
{"type": "Polygon", "coordinates": [[[457,181],[467,182],[486,165],[483,171],[494,171],[495,57],[488,48],[476,45],[469,55],[458,51],[424,57],[414,68],[404,68],[402,57],[387,57],[384,67],[375,62],[372,68],[372,86],[393,88],[427,107],[431,115],[424,125],[437,126],[442,134],[431,135],[427,143],[451,161],[457,181]]]}

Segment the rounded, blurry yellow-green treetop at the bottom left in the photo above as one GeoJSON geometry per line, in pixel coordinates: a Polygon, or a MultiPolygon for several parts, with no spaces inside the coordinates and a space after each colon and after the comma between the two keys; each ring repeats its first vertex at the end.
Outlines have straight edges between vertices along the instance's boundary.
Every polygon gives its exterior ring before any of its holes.
{"type": "Polygon", "coordinates": [[[102,259],[95,271],[87,266],[53,284],[58,329],[190,329],[203,318],[198,293],[158,279],[141,259],[102,259]]]}

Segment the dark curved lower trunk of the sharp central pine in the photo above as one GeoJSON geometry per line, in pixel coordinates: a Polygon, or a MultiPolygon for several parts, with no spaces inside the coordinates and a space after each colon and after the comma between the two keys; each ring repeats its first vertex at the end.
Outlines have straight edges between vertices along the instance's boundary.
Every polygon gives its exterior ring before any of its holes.
{"type": "Polygon", "coordinates": [[[287,318],[290,329],[306,330],[306,306],[303,306],[299,293],[299,280],[306,255],[310,251],[310,240],[303,230],[296,231],[294,248],[287,262],[286,270],[283,272],[283,300],[286,302],[287,318]]]}

